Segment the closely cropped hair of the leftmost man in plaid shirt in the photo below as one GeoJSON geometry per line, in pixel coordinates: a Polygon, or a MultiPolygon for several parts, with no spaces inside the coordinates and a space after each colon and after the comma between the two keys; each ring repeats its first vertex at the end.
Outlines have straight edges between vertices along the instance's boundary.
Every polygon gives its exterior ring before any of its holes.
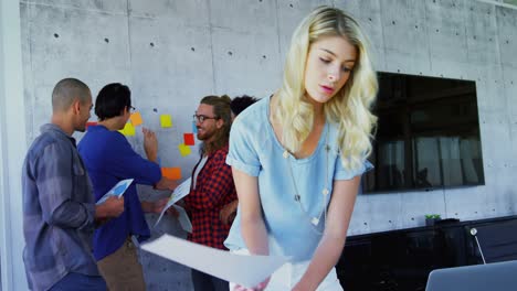
{"type": "Polygon", "coordinates": [[[64,78],[52,90],[52,110],[62,111],[72,106],[75,99],[85,103],[91,97],[89,88],[76,78],[64,78]]]}

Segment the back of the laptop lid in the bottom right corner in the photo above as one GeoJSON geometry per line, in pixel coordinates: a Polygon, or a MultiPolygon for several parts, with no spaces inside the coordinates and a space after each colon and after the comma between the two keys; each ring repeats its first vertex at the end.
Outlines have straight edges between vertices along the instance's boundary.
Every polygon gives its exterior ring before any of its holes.
{"type": "Polygon", "coordinates": [[[516,291],[517,260],[433,270],[425,291],[516,291]]]}

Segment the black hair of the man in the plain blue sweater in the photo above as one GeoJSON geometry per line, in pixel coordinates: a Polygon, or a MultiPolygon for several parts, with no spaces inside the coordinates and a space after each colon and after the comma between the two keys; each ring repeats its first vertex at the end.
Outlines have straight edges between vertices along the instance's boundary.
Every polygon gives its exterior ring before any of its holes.
{"type": "Polygon", "coordinates": [[[95,115],[101,121],[120,116],[126,107],[131,107],[131,90],[120,83],[104,86],[95,99],[95,115]]]}

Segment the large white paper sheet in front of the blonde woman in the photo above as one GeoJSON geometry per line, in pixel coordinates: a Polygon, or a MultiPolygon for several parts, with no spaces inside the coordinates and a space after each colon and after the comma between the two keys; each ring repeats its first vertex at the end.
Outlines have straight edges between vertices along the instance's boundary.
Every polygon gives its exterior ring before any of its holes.
{"type": "Polygon", "coordinates": [[[141,248],[166,259],[247,288],[255,287],[264,281],[287,261],[286,257],[236,255],[169,235],[162,235],[154,241],[144,244],[141,248]]]}

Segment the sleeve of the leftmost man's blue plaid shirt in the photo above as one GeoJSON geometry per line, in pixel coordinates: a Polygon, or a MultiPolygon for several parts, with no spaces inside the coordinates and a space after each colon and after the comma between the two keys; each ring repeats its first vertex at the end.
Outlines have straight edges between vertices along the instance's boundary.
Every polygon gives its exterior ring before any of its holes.
{"type": "Polygon", "coordinates": [[[45,147],[38,159],[36,171],[42,215],[49,225],[63,228],[85,228],[93,225],[95,205],[73,200],[74,191],[77,191],[74,188],[74,175],[86,175],[86,172],[84,169],[74,169],[68,147],[63,143],[45,147]]]}

